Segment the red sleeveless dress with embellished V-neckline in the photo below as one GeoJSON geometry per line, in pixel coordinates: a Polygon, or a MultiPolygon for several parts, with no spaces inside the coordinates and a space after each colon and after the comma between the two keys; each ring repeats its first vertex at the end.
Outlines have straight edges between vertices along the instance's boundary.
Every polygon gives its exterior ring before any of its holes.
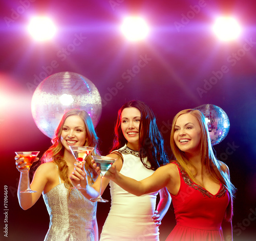
{"type": "Polygon", "coordinates": [[[229,192],[220,184],[216,195],[191,181],[180,164],[180,189],[172,196],[176,226],[166,241],[223,241],[222,220],[229,203],[229,192]]]}

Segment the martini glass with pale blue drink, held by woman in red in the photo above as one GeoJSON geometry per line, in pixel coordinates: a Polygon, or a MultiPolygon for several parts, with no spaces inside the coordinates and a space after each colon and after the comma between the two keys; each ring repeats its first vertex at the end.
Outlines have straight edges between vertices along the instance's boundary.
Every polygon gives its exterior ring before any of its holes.
{"type": "Polygon", "coordinates": [[[103,199],[101,197],[101,184],[102,184],[102,179],[105,173],[109,170],[109,168],[117,160],[117,158],[112,158],[108,156],[92,156],[92,158],[94,159],[97,166],[100,168],[100,188],[99,188],[99,196],[97,198],[91,198],[90,201],[101,202],[101,203],[109,202],[109,200],[103,199]]]}

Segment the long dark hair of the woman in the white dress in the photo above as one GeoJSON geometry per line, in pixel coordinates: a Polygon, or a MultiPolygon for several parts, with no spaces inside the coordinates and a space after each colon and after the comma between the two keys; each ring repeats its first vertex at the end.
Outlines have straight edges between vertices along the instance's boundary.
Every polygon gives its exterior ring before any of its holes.
{"type": "Polygon", "coordinates": [[[126,102],[119,109],[115,125],[115,137],[111,151],[118,150],[127,143],[127,140],[121,130],[121,113],[124,108],[129,107],[137,108],[141,114],[139,125],[140,160],[146,168],[155,171],[159,166],[168,163],[168,158],[164,149],[163,137],[156,124],[155,114],[152,109],[142,101],[126,102]],[[140,136],[140,134],[142,134],[142,136],[140,136]],[[143,160],[144,157],[147,157],[151,166],[146,165],[143,160]]]}

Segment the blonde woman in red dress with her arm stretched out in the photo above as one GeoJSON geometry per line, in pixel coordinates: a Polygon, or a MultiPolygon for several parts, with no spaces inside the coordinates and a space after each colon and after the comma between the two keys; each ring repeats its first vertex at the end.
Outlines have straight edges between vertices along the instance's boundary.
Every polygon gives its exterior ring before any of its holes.
{"type": "Polygon", "coordinates": [[[214,155],[199,110],[183,110],[174,117],[170,146],[176,160],[146,179],[127,178],[115,164],[105,177],[137,196],[167,187],[177,222],[168,241],[233,240],[232,199],[236,188],[229,180],[228,166],[214,155]]]}

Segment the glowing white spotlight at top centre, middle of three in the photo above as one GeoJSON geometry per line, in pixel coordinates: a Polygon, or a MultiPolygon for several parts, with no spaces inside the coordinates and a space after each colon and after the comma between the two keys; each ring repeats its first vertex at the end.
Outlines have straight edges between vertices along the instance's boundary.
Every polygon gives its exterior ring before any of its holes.
{"type": "Polygon", "coordinates": [[[139,41],[147,36],[149,28],[141,17],[127,17],[123,21],[121,31],[127,39],[139,41]]]}

